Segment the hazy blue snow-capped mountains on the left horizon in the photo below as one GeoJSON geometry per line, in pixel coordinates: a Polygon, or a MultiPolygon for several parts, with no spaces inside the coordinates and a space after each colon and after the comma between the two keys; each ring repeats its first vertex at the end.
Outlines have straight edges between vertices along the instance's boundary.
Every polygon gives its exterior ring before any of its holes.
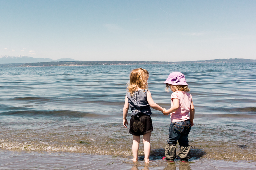
{"type": "Polygon", "coordinates": [[[9,56],[9,55],[0,55],[0,64],[8,63],[40,63],[40,62],[51,62],[51,61],[76,61],[72,58],[61,58],[58,60],[52,60],[50,58],[33,58],[28,56],[9,56]]]}

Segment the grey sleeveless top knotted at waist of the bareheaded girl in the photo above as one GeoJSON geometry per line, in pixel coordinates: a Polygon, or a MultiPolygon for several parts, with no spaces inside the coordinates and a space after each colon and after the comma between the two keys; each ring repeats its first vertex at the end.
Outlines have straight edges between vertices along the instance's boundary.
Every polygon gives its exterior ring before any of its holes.
{"type": "Polygon", "coordinates": [[[140,112],[145,115],[152,114],[147,101],[147,92],[148,90],[134,91],[133,96],[131,96],[130,92],[126,93],[128,103],[131,107],[132,115],[135,112],[135,110],[140,110],[140,112]]]}

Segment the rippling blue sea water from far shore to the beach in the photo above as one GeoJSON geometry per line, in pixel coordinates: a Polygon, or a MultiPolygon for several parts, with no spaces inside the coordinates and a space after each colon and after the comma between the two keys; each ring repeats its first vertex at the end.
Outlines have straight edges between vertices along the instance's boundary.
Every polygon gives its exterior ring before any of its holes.
{"type": "MultiPolygon", "coordinates": [[[[167,109],[171,92],[164,91],[164,80],[172,71],[185,75],[196,110],[189,134],[189,144],[195,147],[190,168],[226,167],[227,161],[233,169],[241,165],[255,168],[256,63],[0,68],[0,151],[7,155],[0,160],[41,155],[42,161],[52,165],[59,159],[67,163],[70,159],[64,159],[65,155],[90,160],[96,154],[105,156],[91,162],[95,169],[120,169],[119,164],[124,169],[142,169],[143,144],[139,164],[133,165],[129,162],[132,135],[122,125],[125,85],[130,71],[139,67],[149,71],[153,100],[167,109]],[[112,167],[112,162],[117,165],[112,167]]],[[[163,169],[170,167],[161,160],[170,117],[153,109],[152,113],[150,158],[154,162],[148,168],[163,169]]],[[[182,169],[177,161],[172,169],[182,169]]],[[[20,164],[13,160],[4,165],[0,168],[20,164]]],[[[33,168],[34,164],[26,166],[33,168]]]]}

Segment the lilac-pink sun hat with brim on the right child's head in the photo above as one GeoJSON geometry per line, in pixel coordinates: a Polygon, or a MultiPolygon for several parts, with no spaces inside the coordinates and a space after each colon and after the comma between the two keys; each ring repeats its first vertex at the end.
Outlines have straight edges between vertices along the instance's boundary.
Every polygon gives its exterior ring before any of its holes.
{"type": "Polygon", "coordinates": [[[171,85],[188,85],[184,74],[182,74],[181,72],[172,72],[164,83],[168,83],[171,85]]]}

